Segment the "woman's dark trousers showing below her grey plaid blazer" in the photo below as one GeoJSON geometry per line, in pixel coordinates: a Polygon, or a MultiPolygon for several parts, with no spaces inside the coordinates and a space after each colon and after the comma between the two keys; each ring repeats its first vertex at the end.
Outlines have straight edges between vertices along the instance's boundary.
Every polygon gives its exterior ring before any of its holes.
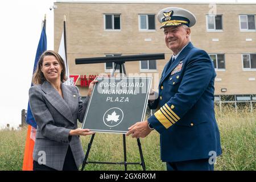
{"type": "MultiPolygon", "coordinates": [[[[37,161],[33,161],[33,171],[57,171],[56,169],[50,168],[44,164],[39,164],[37,161]]],[[[63,165],[63,171],[78,171],[73,157],[71,148],[68,146],[68,151],[65,156],[63,165]]]]}

